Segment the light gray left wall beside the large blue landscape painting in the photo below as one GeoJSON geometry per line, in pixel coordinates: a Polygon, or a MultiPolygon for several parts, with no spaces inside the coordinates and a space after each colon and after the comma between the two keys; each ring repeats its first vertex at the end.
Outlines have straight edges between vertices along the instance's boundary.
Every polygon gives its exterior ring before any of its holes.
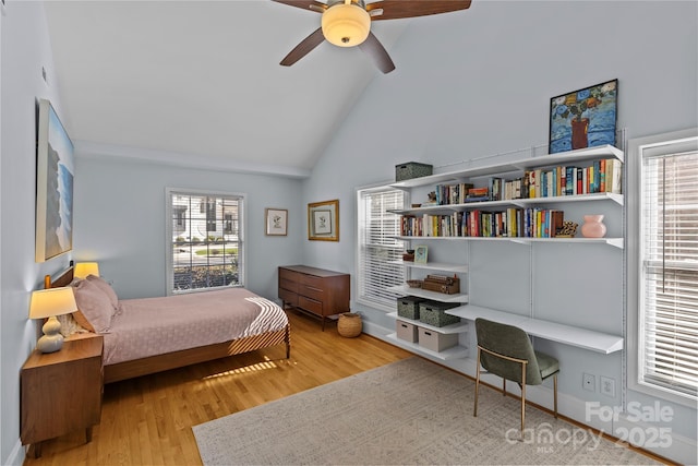
{"type": "Polygon", "coordinates": [[[36,99],[48,98],[61,116],[44,7],[40,2],[8,2],[5,13],[0,16],[0,462],[19,464],[24,458],[19,374],[36,344],[37,332],[36,324],[27,319],[29,294],[41,287],[45,274],[64,267],[70,254],[45,264],[34,262],[36,99]],[[41,79],[43,67],[48,85],[41,79]]]}

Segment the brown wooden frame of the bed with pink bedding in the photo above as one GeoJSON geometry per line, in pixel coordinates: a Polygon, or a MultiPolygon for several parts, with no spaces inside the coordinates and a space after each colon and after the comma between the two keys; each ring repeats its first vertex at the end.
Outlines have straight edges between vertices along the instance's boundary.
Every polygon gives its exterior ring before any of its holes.
{"type": "MultiPolygon", "coordinates": [[[[73,266],[61,273],[51,280],[50,275],[44,279],[45,288],[57,288],[68,286],[73,280],[73,266]]],[[[244,338],[231,339],[229,342],[217,343],[181,351],[168,353],[159,356],[151,356],[133,361],[108,365],[104,368],[104,382],[118,382],[120,380],[132,379],[169,369],[182,368],[198,362],[226,358],[228,356],[240,355],[254,351],[256,349],[268,348],[270,346],[286,345],[286,359],[291,356],[291,327],[268,332],[261,335],[248,336],[244,338]]]]}

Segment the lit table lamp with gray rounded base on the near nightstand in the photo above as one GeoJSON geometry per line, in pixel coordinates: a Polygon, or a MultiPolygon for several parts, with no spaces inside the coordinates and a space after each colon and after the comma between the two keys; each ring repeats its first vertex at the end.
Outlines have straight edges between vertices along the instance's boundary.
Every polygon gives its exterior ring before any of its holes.
{"type": "Polygon", "coordinates": [[[71,287],[39,289],[32,292],[29,302],[29,319],[46,319],[41,327],[44,335],[36,342],[36,348],[41,353],[55,353],[63,346],[63,335],[60,334],[61,323],[56,315],[63,315],[77,310],[75,295],[71,287]]]}

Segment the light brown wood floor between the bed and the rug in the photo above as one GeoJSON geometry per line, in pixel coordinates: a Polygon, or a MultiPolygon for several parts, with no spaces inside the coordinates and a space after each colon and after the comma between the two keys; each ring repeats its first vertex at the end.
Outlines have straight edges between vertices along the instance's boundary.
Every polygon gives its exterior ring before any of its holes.
{"type": "Polygon", "coordinates": [[[101,422],[85,444],[79,431],[44,442],[31,465],[200,465],[192,426],[282,398],[410,356],[362,334],[344,338],[335,324],[296,311],[291,358],[269,348],[105,386],[101,422]]]}

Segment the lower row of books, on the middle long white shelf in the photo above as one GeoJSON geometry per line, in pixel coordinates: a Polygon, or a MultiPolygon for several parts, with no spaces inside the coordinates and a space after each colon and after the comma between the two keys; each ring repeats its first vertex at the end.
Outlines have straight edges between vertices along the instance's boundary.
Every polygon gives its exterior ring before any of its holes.
{"type": "Polygon", "coordinates": [[[552,208],[473,210],[450,215],[404,215],[401,236],[554,238],[563,228],[564,212],[552,208]]]}

